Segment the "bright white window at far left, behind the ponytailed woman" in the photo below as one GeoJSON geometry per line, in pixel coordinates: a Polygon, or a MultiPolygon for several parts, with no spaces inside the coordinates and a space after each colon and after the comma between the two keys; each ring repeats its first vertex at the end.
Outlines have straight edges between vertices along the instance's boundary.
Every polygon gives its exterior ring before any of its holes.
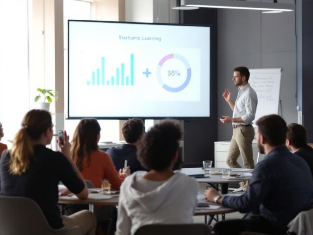
{"type": "Polygon", "coordinates": [[[1,142],[9,144],[28,110],[28,1],[0,1],[1,142]]]}

